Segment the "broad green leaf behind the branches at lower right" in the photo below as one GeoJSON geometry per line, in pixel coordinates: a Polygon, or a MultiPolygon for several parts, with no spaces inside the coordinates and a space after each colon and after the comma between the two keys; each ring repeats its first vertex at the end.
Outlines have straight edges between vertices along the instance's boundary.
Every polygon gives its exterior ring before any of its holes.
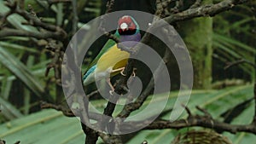
{"type": "MultiPolygon", "coordinates": [[[[226,111],[227,109],[236,106],[241,101],[245,101],[249,98],[253,97],[253,86],[252,85],[244,85],[244,86],[237,86],[231,87],[227,89],[221,90],[193,90],[192,95],[189,100],[189,109],[193,113],[202,114],[195,109],[195,106],[200,106],[206,108],[208,112],[210,112],[213,118],[218,118],[219,114],[226,111]]],[[[173,107],[174,102],[177,98],[177,92],[172,92],[170,95],[170,99],[166,104],[166,109],[170,109],[173,107]]],[[[160,101],[160,97],[156,98],[157,101],[160,101]]],[[[145,105],[147,105],[149,101],[145,101],[145,105]]],[[[157,105],[156,105],[157,106],[157,105]]],[[[143,107],[146,107],[143,105],[143,107]]],[[[140,108],[141,109],[143,109],[140,108]]],[[[246,109],[253,113],[251,110],[246,109]]],[[[151,112],[150,112],[151,114],[151,112]]],[[[188,115],[186,112],[183,112],[181,118],[186,118],[188,115]]],[[[170,113],[166,114],[163,118],[169,119],[170,113]]],[[[240,115],[237,118],[245,118],[244,115],[240,115]]],[[[237,118],[234,120],[234,123],[237,122],[237,118]]],[[[253,115],[247,115],[248,119],[253,118],[253,115]]],[[[218,118],[221,120],[221,118],[218,118]]],[[[244,123],[242,123],[244,124],[244,123]]],[[[247,123],[248,124],[248,123],[247,123]]],[[[178,130],[179,132],[187,131],[193,128],[185,128],[182,130],[178,130]]],[[[129,144],[132,143],[141,143],[143,140],[147,140],[150,144],[158,144],[158,143],[171,143],[172,139],[178,134],[177,130],[143,130],[139,132],[135,137],[129,141],[129,144]]],[[[226,133],[225,133],[226,135],[226,133]]],[[[227,135],[230,137],[230,135],[227,135]]],[[[243,140],[242,137],[241,139],[243,140]]],[[[231,139],[231,138],[230,138],[231,139]]],[[[231,139],[232,141],[235,141],[231,139]]]]}

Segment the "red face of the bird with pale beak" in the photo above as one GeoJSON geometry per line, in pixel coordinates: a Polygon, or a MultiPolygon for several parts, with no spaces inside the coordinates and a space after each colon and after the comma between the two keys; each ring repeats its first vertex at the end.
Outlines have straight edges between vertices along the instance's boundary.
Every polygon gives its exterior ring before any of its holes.
{"type": "Polygon", "coordinates": [[[118,31],[120,35],[131,35],[137,31],[137,26],[130,16],[125,15],[118,21],[118,31]]]}

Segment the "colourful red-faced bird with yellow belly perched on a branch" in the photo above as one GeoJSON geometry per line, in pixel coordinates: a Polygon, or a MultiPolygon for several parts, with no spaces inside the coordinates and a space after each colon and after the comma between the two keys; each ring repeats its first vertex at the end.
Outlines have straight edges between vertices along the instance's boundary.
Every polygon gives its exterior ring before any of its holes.
{"type": "MultiPolygon", "coordinates": [[[[120,43],[127,48],[134,47],[140,40],[141,34],[137,21],[131,15],[122,16],[118,20],[118,27],[114,34],[119,37],[120,43]]],[[[125,69],[130,54],[118,48],[117,43],[109,39],[104,45],[92,66],[84,74],[84,86],[105,78],[113,92],[114,88],[110,82],[110,76],[114,76],[125,69]]]]}

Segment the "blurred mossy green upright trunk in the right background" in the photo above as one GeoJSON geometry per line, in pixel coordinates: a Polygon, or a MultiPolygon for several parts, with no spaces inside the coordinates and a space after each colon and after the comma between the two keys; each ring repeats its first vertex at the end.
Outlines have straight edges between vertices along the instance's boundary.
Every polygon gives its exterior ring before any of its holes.
{"type": "MultiPolygon", "coordinates": [[[[212,3],[207,0],[206,3],[212,3]]],[[[210,89],[212,82],[212,18],[196,18],[180,23],[194,68],[194,88],[210,89]]]]}

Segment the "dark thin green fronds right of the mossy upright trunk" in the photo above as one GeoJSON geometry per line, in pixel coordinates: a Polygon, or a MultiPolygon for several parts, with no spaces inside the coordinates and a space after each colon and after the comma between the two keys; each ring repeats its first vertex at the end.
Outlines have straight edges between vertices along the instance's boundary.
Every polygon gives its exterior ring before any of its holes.
{"type": "MultiPolygon", "coordinates": [[[[255,27],[256,19],[253,7],[255,7],[255,3],[247,3],[214,17],[212,44],[214,48],[213,71],[216,72],[213,72],[213,78],[224,79],[218,74],[224,75],[227,73],[223,72],[223,67],[228,62],[239,59],[246,59],[252,62],[255,60],[256,45],[253,27],[255,27]]],[[[231,74],[227,78],[243,78],[247,81],[255,79],[253,66],[241,64],[233,68],[232,71],[237,73],[235,75],[231,74]]]]}

